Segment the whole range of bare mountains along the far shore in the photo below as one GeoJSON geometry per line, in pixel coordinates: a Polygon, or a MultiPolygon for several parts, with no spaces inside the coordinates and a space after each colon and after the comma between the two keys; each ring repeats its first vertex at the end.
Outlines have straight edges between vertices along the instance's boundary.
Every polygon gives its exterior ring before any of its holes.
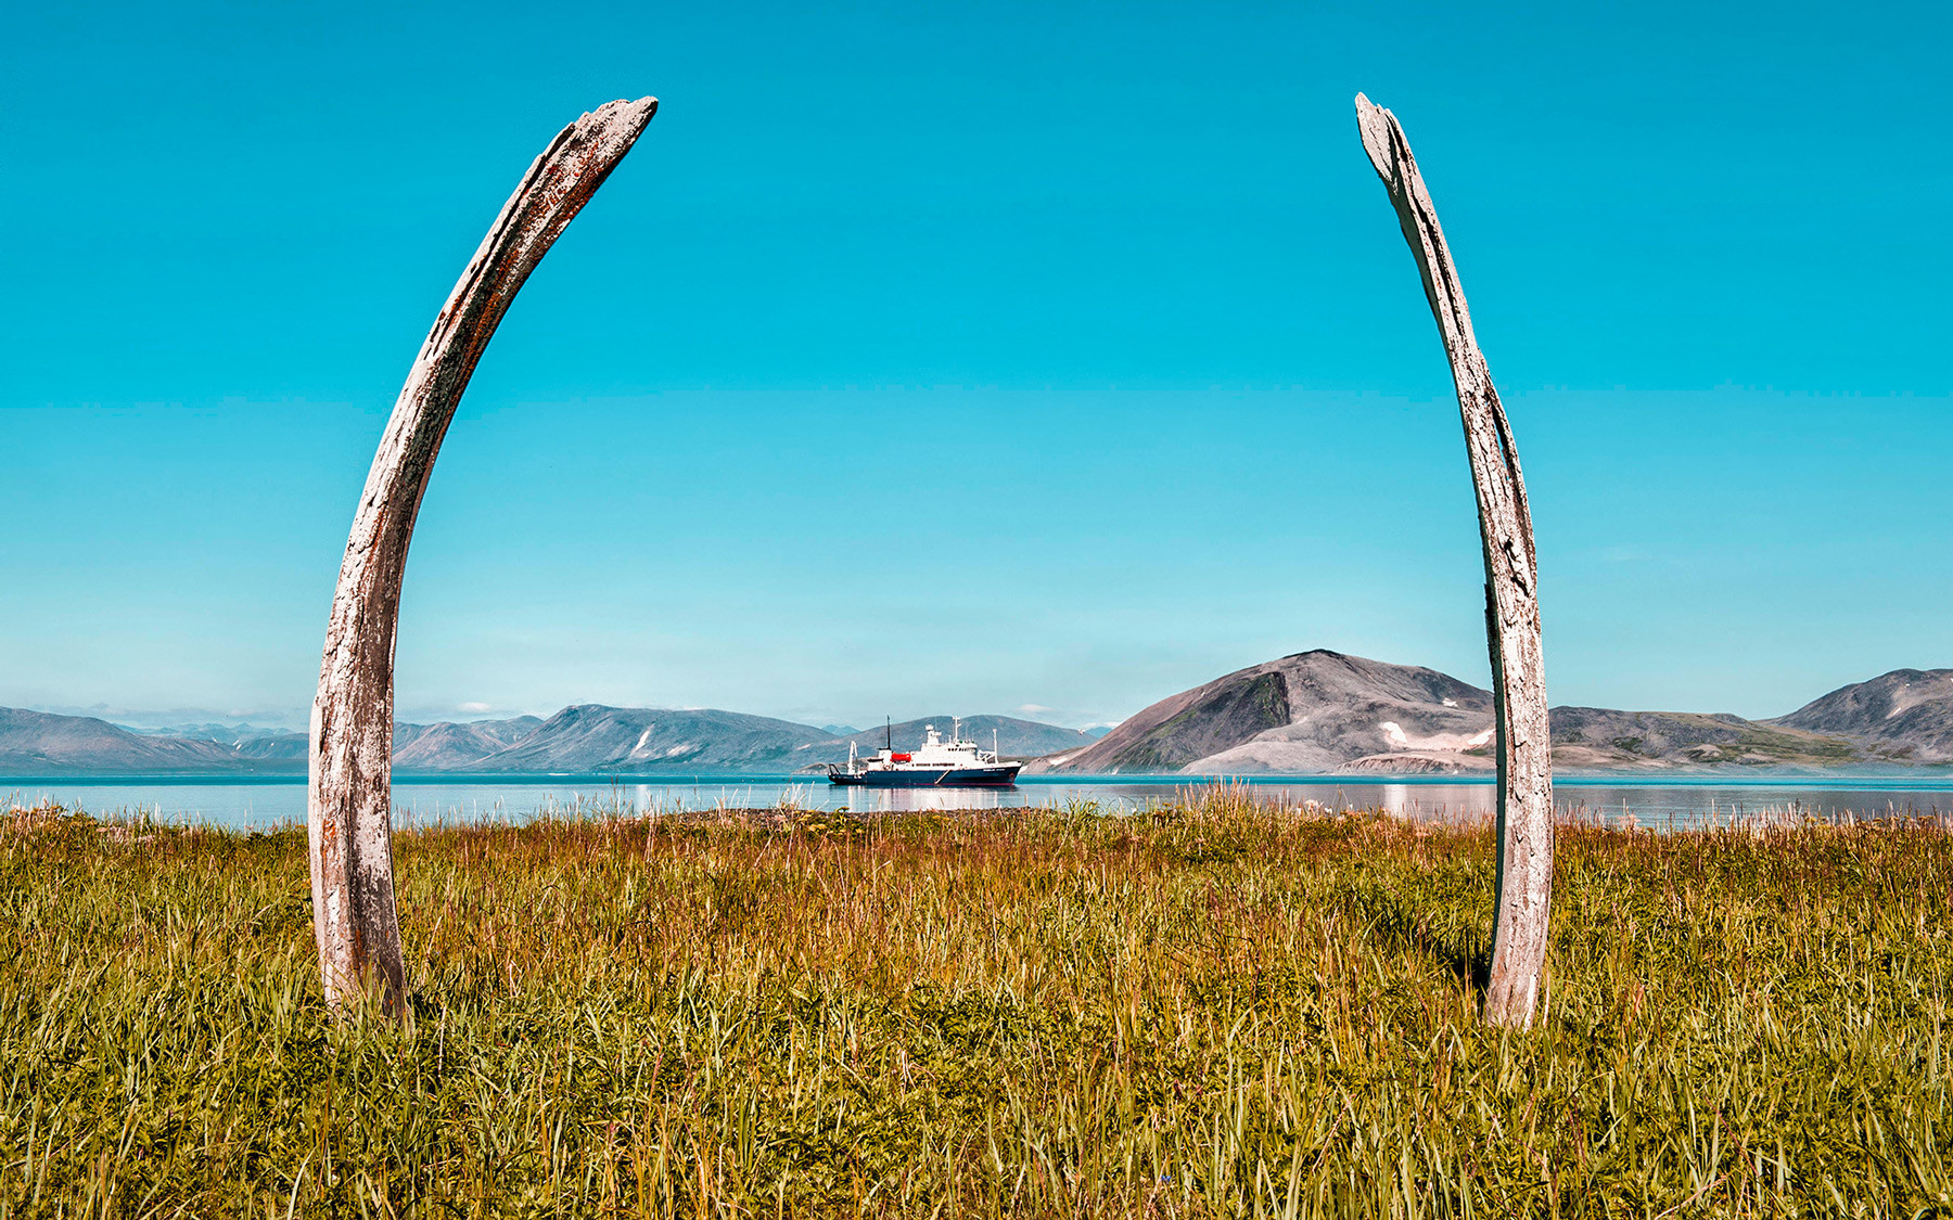
{"type": "MultiPolygon", "coordinates": [[[[951,716],[848,730],[713,709],[576,705],[549,718],[395,724],[402,775],[791,773],[920,746],[951,716]]],[[[1557,707],[1558,771],[1898,769],[1953,763],[1953,670],[1894,670],[1795,712],[1557,707]]],[[[1420,666],[1297,652],[1182,691],[1094,736],[1016,716],[965,716],[1035,773],[1410,775],[1490,771],[1492,695],[1420,666]]],[[[137,732],[94,716],[0,709],[0,775],[291,775],[305,734],[250,726],[137,732]]]]}

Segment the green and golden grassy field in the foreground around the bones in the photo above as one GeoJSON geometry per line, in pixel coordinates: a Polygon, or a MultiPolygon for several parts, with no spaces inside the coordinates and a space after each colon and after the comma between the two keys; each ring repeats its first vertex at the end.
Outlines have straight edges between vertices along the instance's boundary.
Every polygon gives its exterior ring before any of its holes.
{"type": "Polygon", "coordinates": [[[414,1023],[316,996],[305,834],[0,818],[4,1216],[1949,1214],[1953,841],[588,820],[396,845],[414,1023]]]}

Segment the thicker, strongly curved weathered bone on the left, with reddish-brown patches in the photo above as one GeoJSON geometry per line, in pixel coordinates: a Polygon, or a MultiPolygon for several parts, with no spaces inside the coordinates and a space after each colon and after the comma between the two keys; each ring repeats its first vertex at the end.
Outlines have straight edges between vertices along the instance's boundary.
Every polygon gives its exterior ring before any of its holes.
{"type": "Polygon", "coordinates": [[[393,892],[393,648],[406,547],[434,457],[518,289],[656,109],[656,98],[600,105],[529,164],[436,316],[373,455],[340,562],[311,728],[312,933],[334,1005],[375,988],[389,1013],[404,1011],[393,892]]]}

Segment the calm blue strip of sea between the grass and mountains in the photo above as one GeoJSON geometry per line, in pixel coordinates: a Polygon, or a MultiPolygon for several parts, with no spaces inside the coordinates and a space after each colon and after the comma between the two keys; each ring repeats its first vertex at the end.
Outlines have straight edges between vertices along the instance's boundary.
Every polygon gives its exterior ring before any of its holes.
{"type": "MultiPolygon", "coordinates": [[[[1350,779],[1307,775],[1256,775],[1242,783],[1258,798],[1332,808],[1387,808],[1430,820],[1465,820],[1492,810],[1490,781],[1350,779]]],[[[1004,791],[836,789],[826,781],[791,775],[697,775],[656,781],[605,777],[494,777],[412,779],[395,783],[395,822],[527,822],[537,816],[605,816],[615,812],[678,812],[754,808],[795,802],[803,808],[896,812],[984,810],[1016,806],[1094,804],[1103,812],[1137,812],[1201,787],[1185,775],[1164,777],[1039,777],[1004,791]]],[[[1687,779],[1621,783],[1619,779],[1558,779],[1562,810],[1607,822],[1646,828],[1713,826],[1758,816],[1887,818],[1953,816],[1953,775],[1896,779],[1687,779]]],[[[59,800],[96,816],[145,814],[170,822],[264,830],[305,820],[305,779],[180,777],[117,779],[6,779],[0,808],[59,800]]]]}

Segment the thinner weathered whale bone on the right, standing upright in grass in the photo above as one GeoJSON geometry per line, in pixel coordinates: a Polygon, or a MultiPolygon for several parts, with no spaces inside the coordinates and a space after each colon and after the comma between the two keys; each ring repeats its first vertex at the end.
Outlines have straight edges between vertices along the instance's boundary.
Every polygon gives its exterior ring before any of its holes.
{"type": "Polygon", "coordinates": [[[1519,451],[1492,371],[1478,351],[1465,289],[1424,176],[1396,115],[1355,96],[1357,131],[1377,168],[1404,240],[1418,260],[1424,297],[1451,361],[1465,449],[1478,492],[1484,543],[1484,623],[1492,652],[1492,705],[1498,724],[1498,884],[1492,898],[1492,970],[1484,1019],[1531,1025],[1547,964],[1553,908],[1553,746],[1547,728],[1547,662],[1539,640],[1539,566],[1533,513],[1525,506],[1519,451]]]}

